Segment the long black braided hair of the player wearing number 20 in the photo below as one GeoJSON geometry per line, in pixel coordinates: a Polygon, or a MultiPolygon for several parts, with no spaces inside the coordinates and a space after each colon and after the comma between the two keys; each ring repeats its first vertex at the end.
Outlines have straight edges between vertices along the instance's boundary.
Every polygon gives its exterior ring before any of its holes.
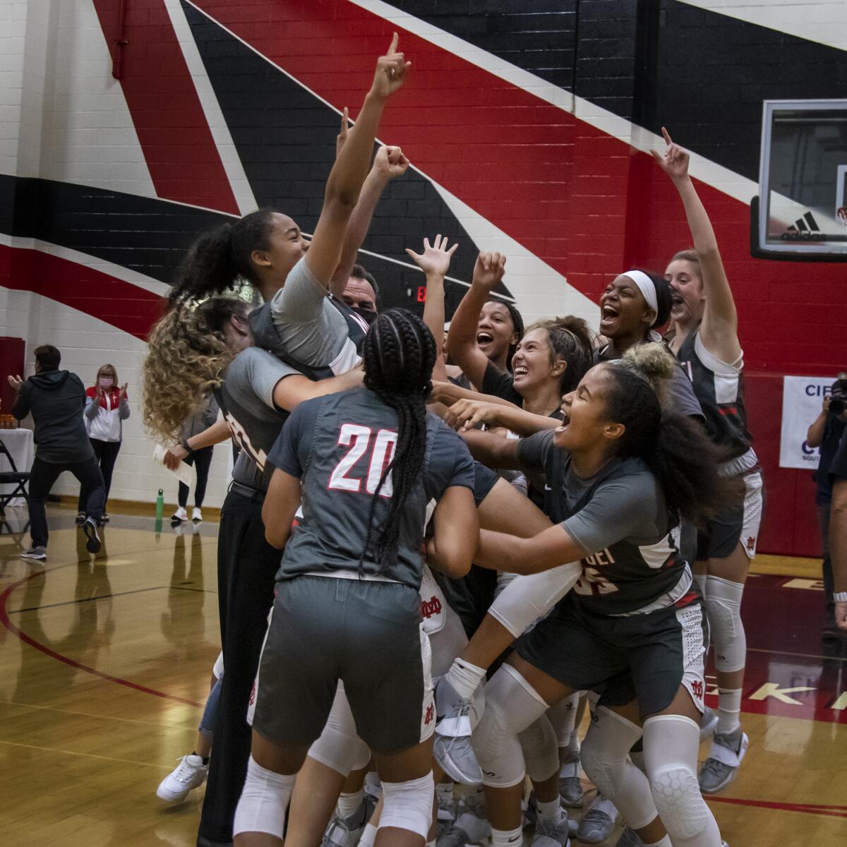
{"type": "Polygon", "coordinates": [[[407,309],[389,309],[371,325],[362,347],[365,387],[397,412],[397,444],[371,499],[368,534],[359,570],[373,556],[379,572],[396,559],[402,508],[418,481],[426,452],[426,398],[432,390],[435,339],[426,324],[407,309]],[[380,491],[391,474],[388,515],[374,526],[380,491]],[[373,548],[373,550],[372,550],[373,548]]]}

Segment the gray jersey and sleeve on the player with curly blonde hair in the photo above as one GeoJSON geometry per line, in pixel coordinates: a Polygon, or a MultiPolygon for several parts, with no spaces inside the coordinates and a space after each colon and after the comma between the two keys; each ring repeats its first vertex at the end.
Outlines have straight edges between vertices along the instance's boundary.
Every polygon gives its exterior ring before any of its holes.
{"type": "Polygon", "coordinates": [[[232,479],[251,488],[267,490],[273,468],[268,453],[274,446],[288,412],[274,404],[280,379],[299,374],[267,351],[247,347],[230,362],[224,382],[214,395],[232,437],[241,446],[232,479]]]}

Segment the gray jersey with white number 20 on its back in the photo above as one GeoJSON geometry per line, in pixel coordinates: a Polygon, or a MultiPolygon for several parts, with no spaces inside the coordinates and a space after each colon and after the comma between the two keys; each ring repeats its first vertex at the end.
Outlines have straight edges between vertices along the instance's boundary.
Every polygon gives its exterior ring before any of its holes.
{"type": "MultiPolygon", "coordinates": [[[[275,467],[302,479],[303,518],[285,545],[278,580],[357,570],[373,495],[396,440],[396,412],[368,389],[316,397],[296,408],[268,456],[275,467]]],[[[382,576],[419,589],[426,505],[453,485],[473,491],[474,479],[468,447],[428,414],[424,466],[399,518],[396,562],[382,576]]],[[[376,528],[388,514],[390,496],[389,474],[374,511],[376,528]]],[[[365,556],[363,572],[377,570],[373,556],[365,556]]]]}

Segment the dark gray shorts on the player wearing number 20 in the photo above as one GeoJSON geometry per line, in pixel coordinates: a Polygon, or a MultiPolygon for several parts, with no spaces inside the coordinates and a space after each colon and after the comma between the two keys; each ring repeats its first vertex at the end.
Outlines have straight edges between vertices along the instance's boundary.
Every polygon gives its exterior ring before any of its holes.
{"type": "Polygon", "coordinates": [[[253,728],[280,746],[323,732],[339,680],[359,737],[377,753],[435,729],[429,638],[407,585],[299,576],[277,583],[257,675],[253,728]]]}

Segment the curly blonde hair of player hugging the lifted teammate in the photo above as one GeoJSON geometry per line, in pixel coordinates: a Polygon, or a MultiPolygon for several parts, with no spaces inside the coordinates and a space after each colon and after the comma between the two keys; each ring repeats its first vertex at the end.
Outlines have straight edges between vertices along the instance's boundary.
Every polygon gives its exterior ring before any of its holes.
{"type": "Polygon", "coordinates": [[[179,441],[185,420],[197,414],[235,357],[224,324],[249,306],[216,297],[198,307],[172,308],[152,328],[143,372],[144,425],[164,443],[179,441]]]}

